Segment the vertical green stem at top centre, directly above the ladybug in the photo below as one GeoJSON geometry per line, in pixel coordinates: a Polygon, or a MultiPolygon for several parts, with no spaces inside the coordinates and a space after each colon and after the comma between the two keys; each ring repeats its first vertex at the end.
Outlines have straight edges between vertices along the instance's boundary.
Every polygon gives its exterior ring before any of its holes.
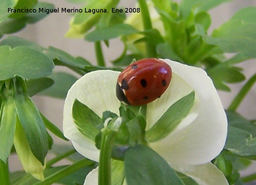
{"type": "MultiPolygon", "coordinates": [[[[151,30],[152,24],[151,24],[149,10],[148,10],[146,1],[138,0],[138,3],[140,5],[144,30],[151,30]]],[[[147,51],[148,57],[156,57],[157,56],[156,46],[153,43],[148,43],[148,42],[146,43],[146,51],[147,51]]]]}

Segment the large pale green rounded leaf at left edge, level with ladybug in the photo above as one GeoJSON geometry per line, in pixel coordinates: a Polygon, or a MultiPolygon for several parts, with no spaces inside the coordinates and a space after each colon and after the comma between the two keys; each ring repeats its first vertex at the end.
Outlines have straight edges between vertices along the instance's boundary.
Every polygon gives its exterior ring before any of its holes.
{"type": "Polygon", "coordinates": [[[27,47],[11,49],[9,46],[1,46],[0,61],[0,80],[17,75],[25,79],[46,77],[54,69],[49,57],[27,47]]]}

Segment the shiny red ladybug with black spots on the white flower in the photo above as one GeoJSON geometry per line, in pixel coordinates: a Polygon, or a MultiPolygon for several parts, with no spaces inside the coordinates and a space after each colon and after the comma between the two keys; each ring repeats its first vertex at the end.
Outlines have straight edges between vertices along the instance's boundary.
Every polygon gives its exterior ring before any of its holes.
{"type": "Polygon", "coordinates": [[[172,69],[164,61],[145,58],[130,64],[118,76],[116,97],[129,105],[145,105],[160,98],[169,86],[172,69]]]}

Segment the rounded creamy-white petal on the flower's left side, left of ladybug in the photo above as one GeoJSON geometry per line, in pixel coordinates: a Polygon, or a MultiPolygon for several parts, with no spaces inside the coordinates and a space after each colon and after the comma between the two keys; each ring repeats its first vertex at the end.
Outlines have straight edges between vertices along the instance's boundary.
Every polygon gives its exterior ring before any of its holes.
{"type": "Polygon", "coordinates": [[[119,72],[104,70],[85,74],[69,89],[63,112],[63,132],[75,149],[88,159],[99,160],[99,150],[92,140],[78,131],[72,117],[75,98],[91,108],[99,117],[108,110],[118,114],[120,106],[115,95],[116,79],[119,72]]]}

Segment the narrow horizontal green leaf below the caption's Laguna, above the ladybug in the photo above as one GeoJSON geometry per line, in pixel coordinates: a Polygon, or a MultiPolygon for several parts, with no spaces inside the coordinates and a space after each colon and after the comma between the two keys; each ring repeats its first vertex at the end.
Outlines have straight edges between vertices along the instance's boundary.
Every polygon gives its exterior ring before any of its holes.
{"type": "Polygon", "coordinates": [[[134,29],[129,24],[115,24],[109,27],[94,30],[85,36],[85,40],[95,42],[100,40],[109,40],[116,37],[139,33],[140,31],[134,29]]]}

